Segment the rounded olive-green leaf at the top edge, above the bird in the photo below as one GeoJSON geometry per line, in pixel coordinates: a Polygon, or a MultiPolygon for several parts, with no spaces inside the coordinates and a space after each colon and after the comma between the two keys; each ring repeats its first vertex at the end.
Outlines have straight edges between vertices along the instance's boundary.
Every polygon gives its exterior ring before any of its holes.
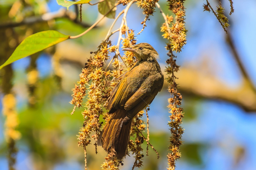
{"type": "Polygon", "coordinates": [[[107,12],[109,12],[106,16],[107,18],[115,18],[115,0],[105,0],[98,4],[98,10],[102,15],[105,15],[107,12]],[[113,8],[114,7],[114,8],[113,8]],[[113,8],[113,9],[112,9],[113,8]],[[112,9],[111,12],[110,9],[112,9]]]}

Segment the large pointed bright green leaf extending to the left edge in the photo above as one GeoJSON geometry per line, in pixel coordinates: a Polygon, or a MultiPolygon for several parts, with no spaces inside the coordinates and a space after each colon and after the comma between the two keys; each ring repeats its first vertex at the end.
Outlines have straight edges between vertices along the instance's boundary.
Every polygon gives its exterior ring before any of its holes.
{"type": "Polygon", "coordinates": [[[0,69],[16,60],[37,53],[38,51],[42,51],[66,39],[69,39],[69,35],[64,35],[54,30],[32,34],[24,39],[20,45],[18,45],[8,60],[0,66],[0,69]]]}

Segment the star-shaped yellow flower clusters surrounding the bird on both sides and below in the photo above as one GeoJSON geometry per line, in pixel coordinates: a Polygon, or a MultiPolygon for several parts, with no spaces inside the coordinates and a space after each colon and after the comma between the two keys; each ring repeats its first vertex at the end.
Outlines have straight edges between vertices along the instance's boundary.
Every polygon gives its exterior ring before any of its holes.
{"type": "MultiPolygon", "coordinates": [[[[125,34],[123,38],[122,45],[123,47],[131,47],[136,43],[136,37],[133,30],[128,30],[125,26],[121,30],[125,34]],[[128,33],[128,34],[127,34],[128,33]],[[127,35],[126,35],[127,34],[127,35]]],[[[74,109],[71,114],[74,113],[76,107],[84,107],[82,116],[84,118],[84,123],[82,128],[79,131],[79,146],[82,146],[85,151],[85,162],[86,162],[86,146],[91,144],[91,140],[95,139],[94,145],[97,147],[96,142],[100,135],[100,128],[103,122],[99,121],[100,115],[107,122],[110,120],[111,115],[107,112],[103,112],[103,107],[106,107],[108,101],[107,99],[110,96],[110,93],[118,83],[121,74],[124,73],[125,69],[122,67],[121,61],[118,60],[119,54],[114,56],[111,60],[113,70],[105,70],[103,66],[105,61],[109,58],[110,53],[117,53],[117,46],[111,45],[110,41],[102,42],[98,50],[94,53],[93,57],[88,59],[88,62],[85,63],[85,68],[82,69],[82,73],[79,74],[80,80],[75,85],[73,90],[73,99],[71,104],[74,104],[74,109]],[[86,101],[83,101],[86,97],[86,101]],[[92,132],[95,134],[91,135],[92,132]]],[[[119,52],[118,52],[119,53],[119,52]]],[[[129,70],[136,59],[134,55],[130,52],[125,52],[125,56],[121,57],[124,64],[127,66],[126,70],[129,70]]],[[[135,136],[134,140],[129,141],[129,150],[135,154],[135,164],[134,167],[140,167],[142,165],[142,155],[143,153],[141,144],[144,141],[142,132],[145,130],[146,125],[140,117],[143,116],[143,112],[140,112],[137,117],[133,120],[131,134],[135,136]]],[[[97,152],[97,151],[96,151],[97,152]]],[[[116,161],[115,158],[108,155],[106,161],[102,164],[102,169],[118,169],[120,162],[116,161]]],[[[123,163],[121,163],[122,165],[123,163]]],[[[85,169],[87,169],[85,165],[85,169]]]]}

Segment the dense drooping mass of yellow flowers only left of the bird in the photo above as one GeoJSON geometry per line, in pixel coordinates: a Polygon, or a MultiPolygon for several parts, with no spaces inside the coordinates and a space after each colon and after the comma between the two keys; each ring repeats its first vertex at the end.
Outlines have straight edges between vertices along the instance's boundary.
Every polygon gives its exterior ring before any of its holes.
{"type": "MultiPolygon", "coordinates": [[[[91,133],[96,133],[92,135],[92,138],[95,139],[94,145],[96,145],[99,137],[100,127],[102,125],[102,122],[99,122],[99,116],[103,114],[102,107],[116,84],[111,79],[122,74],[122,72],[111,72],[102,68],[104,61],[109,58],[109,53],[115,52],[115,50],[116,47],[112,46],[110,41],[107,43],[103,42],[99,46],[99,50],[95,52],[93,58],[90,57],[88,62],[85,63],[85,68],[83,68],[82,73],[79,74],[80,80],[77,82],[77,85],[75,85],[75,88],[72,89],[73,99],[70,103],[74,104],[74,109],[71,114],[74,113],[76,107],[83,106],[85,108],[82,112],[84,123],[78,136],[78,145],[84,147],[85,156],[86,146],[91,142],[91,133]],[[86,95],[87,101],[83,102],[86,95]]],[[[118,61],[115,62],[119,64],[118,61]]],[[[108,118],[106,114],[103,114],[103,117],[108,118]]]]}

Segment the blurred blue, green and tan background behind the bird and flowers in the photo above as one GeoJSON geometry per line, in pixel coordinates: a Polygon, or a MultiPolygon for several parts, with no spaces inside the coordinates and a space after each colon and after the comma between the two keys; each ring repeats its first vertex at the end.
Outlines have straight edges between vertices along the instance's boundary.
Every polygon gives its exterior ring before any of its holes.
{"type": "MultiPolygon", "coordinates": [[[[177,170],[256,169],[256,34],[253,31],[256,28],[256,1],[233,2],[235,12],[230,16],[230,2],[222,1],[230,19],[229,34],[226,34],[212,12],[203,12],[206,1],[185,1],[187,45],[177,54],[177,63],[181,67],[176,74],[183,95],[185,132],[177,170]]],[[[214,9],[217,3],[210,1],[214,9]]],[[[159,4],[168,13],[166,1],[160,0],[159,4]]],[[[118,6],[116,14],[122,9],[122,5],[118,6]]],[[[31,34],[58,30],[63,34],[78,35],[102,16],[97,5],[84,4],[80,23],[76,11],[71,6],[67,12],[56,0],[1,0],[0,64],[31,34]],[[45,22],[40,20],[43,16],[53,16],[54,19],[45,22]]],[[[142,9],[133,4],[127,24],[135,34],[141,30],[143,19],[142,9]]],[[[1,110],[4,95],[15,94],[12,103],[17,113],[16,169],[84,169],[84,152],[77,146],[76,136],[83,124],[82,108],[70,115],[73,105],[68,102],[90,51],[97,49],[112,22],[113,19],[105,19],[81,38],[61,42],[0,70],[1,110]]],[[[120,22],[121,18],[113,30],[120,22]]],[[[168,56],[165,39],[160,33],[163,22],[162,14],[156,9],[137,39],[138,43],[148,42],[157,50],[164,70],[168,56]]],[[[112,44],[116,44],[117,36],[111,37],[112,44]]],[[[141,169],[167,167],[169,97],[165,82],[149,111],[150,142],[160,153],[160,158],[157,159],[154,151],[149,149],[141,169]]],[[[0,170],[8,169],[6,124],[3,113],[0,115],[0,170]]],[[[98,147],[96,155],[93,145],[87,148],[88,169],[101,169],[106,152],[98,147]]],[[[131,169],[133,161],[132,155],[127,156],[120,169],[131,169]]]]}

